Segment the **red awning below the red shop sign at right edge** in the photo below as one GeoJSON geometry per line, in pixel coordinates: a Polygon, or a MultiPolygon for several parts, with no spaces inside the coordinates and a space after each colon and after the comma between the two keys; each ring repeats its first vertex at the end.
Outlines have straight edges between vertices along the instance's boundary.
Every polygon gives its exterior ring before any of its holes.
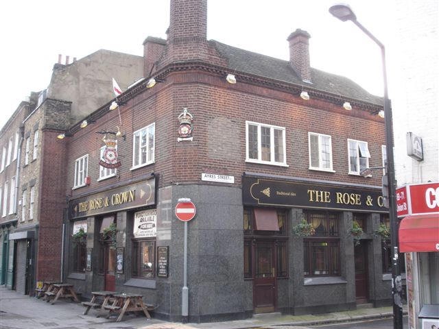
{"type": "Polygon", "coordinates": [[[399,224],[399,252],[439,252],[439,214],[404,217],[399,224]]]}

